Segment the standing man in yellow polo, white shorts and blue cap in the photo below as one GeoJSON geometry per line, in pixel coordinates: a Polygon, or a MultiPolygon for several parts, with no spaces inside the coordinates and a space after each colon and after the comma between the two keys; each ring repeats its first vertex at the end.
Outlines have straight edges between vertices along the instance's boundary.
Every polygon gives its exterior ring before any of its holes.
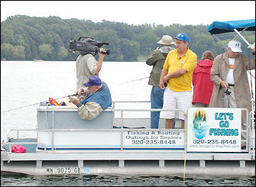
{"type": "Polygon", "coordinates": [[[180,33],[176,39],[176,50],[171,50],[164,62],[160,76],[160,89],[164,89],[163,109],[180,109],[161,111],[160,118],[165,118],[165,128],[173,128],[173,118],[181,120],[184,128],[184,113],[192,106],[192,75],[196,67],[196,53],[189,49],[189,37],[180,33]],[[167,83],[165,87],[164,83],[167,83]]]}

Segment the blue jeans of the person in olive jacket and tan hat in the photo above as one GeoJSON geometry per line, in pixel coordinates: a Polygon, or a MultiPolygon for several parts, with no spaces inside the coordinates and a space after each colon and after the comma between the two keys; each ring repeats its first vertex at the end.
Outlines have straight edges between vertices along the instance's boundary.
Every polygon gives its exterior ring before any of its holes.
{"type": "MultiPolygon", "coordinates": [[[[151,90],[151,108],[163,108],[164,89],[153,86],[151,90]]],[[[160,111],[151,111],[151,128],[158,128],[160,111]]]]}

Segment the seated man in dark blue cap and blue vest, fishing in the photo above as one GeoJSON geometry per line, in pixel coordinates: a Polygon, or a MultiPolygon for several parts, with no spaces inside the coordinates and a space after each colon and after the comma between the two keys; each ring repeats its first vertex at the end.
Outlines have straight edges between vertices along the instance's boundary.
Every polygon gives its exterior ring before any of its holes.
{"type": "Polygon", "coordinates": [[[82,88],[76,91],[76,95],[85,95],[86,98],[79,102],[78,98],[70,97],[70,102],[78,108],[80,118],[92,120],[96,118],[102,110],[112,106],[112,98],[109,92],[109,87],[105,82],[102,82],[98,76],[90,76],[89,82],[85,82],[82,88]]]}

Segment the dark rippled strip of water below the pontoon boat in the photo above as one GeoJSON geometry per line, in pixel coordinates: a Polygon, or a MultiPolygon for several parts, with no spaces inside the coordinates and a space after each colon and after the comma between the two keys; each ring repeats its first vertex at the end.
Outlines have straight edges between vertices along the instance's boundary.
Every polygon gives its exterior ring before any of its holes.
{"type": "Polygon", "coordinates": [[[255,186],[255,177],[221,178],[212,176],[24,176],[1,175],[1,185],[126,185],[126,186],[255,186]]]}

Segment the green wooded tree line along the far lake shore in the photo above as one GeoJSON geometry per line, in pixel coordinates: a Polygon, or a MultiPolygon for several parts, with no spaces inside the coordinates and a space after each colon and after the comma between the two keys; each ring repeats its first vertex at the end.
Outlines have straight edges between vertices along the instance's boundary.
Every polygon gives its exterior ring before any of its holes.
{"type": "MultiPolygon", "coordinates": [[[[15,15],[1,22],[1,59],[73,61],[79,54],[69,53],[70,39],[86,36],[109,43],[102,46],[110,50],[110,54],[105,55],[105,61],[146,60],[146,57],[159,47],[157,41],[163,35],[174,38],[182,32],[189,36],[190,50],[196,53],[199,60],[205,50],[212,50],[215,56],[225,51],[225,47],[209,34],[208,26],[129,25],[105,20],[94,23],[90,20],[61,19],[56,16],[37,18],[15,15]]],[[[218,34],[218,37],[224,44],[228,44],[235,35],[225,33],[218,34]]],[[[255,42],[255,31],[245,31],[243,36],[250,44],[255,42]]],[[[243,53],[248,55],[247,44],[240,37],[236,40],[242,43],[243,53]]]]}

